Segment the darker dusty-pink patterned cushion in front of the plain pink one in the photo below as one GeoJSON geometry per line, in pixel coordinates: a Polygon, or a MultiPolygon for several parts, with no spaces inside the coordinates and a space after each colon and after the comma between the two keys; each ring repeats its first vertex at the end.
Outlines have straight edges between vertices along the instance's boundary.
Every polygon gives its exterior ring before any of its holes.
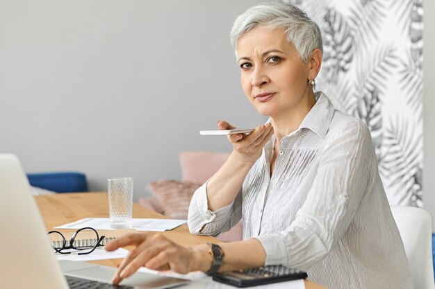
{"type": "Polygon", "coordinates": [[[156,195],[165,216],[186,220],[190,199],[201,185],[190,181],[163,180],[152,182],[148,186],[156,195]]]}

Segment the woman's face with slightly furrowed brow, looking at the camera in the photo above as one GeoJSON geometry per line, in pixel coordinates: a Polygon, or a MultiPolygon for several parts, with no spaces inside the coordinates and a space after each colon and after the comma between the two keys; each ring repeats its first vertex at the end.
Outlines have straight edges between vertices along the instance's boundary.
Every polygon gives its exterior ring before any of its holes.
{"type": "Polygon", "coordinates": [[[276,118],[306,105],[309,64],[284,29],[253,28],[238,40],[237,55],[243,91],[260,114],[276,118]]]}

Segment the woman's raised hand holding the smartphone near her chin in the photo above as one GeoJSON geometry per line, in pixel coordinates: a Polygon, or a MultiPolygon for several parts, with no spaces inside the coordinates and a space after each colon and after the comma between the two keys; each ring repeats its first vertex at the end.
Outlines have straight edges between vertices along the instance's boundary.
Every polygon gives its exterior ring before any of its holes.
{"type": "MultiPolygon", "coordinates": [[[[233,130],[235,127],[227,123],[227,121],[218,121],[217,126],[220,130],[233,130]]],[[[233,153],[239,161],[254,163],[265,144],[269,141],[273,134],[271,123],[258,126],[254,132],[250,134],[230,134],[228,140],[233,146],[233,153]]]]}

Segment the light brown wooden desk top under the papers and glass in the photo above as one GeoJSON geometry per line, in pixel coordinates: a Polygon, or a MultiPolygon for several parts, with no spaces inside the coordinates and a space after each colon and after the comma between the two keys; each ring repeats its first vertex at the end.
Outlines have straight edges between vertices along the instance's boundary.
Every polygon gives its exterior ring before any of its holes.
{"type": "MultiPolygon", "coordinates": [[[[42,213],[47,231],[56,226],[63,225],[67,222],[74,222],[81,218],[108,218],[108,196],[107,193],[60,193],[56,195],[37,195],[35,200],[42,213]]],[[[165,216],[149,211],[139,204],[133,203],[133,218],[165,218],[165,216]]],[[[75,231],[75,230],[59,230],[75,231]]],[[[101,230],[99,230],[100,232],[101,230]]],[[[101,231],[106,236],[118,236],[122,231],[101,231]]],[[[189,246],[207,242],[220,242],[215,238],[208,236],[194,236],[189,233],[186,225],[177,227],[171,231],[165,231],[163,234],[180,245],[189,246]]],[[[116,267],[122,259],[93,261],[116,267]]],[[[311,281],[305,281],[307,289],[322,289],[322,286],[311,281]]]]}

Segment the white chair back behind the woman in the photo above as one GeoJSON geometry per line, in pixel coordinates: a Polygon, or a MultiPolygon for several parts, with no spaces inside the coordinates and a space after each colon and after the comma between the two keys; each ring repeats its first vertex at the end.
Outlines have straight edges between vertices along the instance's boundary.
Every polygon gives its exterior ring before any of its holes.
{"type": "Polygon", "coordinates": [[[425,209],[391,206],[411,269],[415,289],[434,289],[432,217],[425,209]]]}

